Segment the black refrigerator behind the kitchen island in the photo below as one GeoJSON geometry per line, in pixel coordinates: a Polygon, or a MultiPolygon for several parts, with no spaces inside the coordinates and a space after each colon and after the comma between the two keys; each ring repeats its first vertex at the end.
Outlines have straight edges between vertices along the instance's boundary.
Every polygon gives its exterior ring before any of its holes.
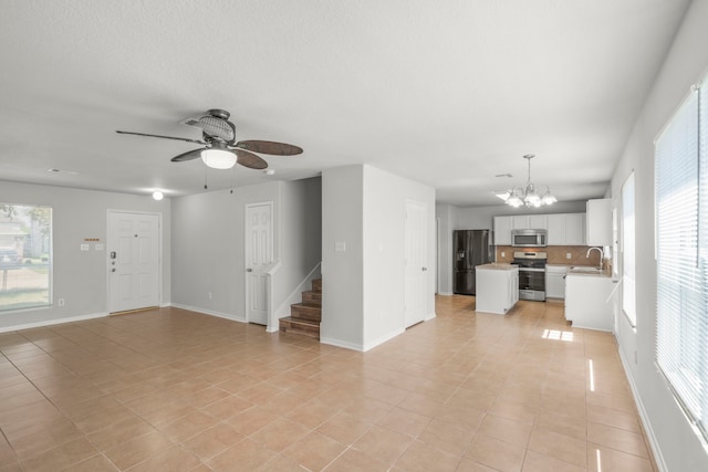
{"type": "Polygon", "coordinates": [[[475,268],[491,262],[491,230],[456,230],[452,232],[452,292],[477,294],[475,268]]]}

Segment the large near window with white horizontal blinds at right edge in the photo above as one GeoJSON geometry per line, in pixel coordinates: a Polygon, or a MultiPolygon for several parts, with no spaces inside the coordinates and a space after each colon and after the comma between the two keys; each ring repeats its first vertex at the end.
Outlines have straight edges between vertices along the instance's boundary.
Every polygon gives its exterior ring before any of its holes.
{"type": "Polygon", "coordinates": [[[656,364],[708,440],[708,85],[655,143],[656,364]]]}

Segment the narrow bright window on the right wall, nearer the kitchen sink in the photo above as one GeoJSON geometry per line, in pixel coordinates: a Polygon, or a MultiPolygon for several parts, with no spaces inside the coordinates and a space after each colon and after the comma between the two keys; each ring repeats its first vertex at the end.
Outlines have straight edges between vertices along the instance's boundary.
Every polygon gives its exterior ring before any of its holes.
{"type": "Polygon", "coordinates": [[[634,172],[622,186],[622,311],[632,326],[637,325],[634,238],[634,172]]]}

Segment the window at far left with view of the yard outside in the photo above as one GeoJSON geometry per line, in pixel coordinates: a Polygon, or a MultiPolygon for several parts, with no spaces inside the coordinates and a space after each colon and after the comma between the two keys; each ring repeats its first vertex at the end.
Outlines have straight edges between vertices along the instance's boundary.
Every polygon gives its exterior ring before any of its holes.
{"type": "Polygon", "coordinates": [[[52,209],[0,202],[0,312],[51,305],[52,209]]]}

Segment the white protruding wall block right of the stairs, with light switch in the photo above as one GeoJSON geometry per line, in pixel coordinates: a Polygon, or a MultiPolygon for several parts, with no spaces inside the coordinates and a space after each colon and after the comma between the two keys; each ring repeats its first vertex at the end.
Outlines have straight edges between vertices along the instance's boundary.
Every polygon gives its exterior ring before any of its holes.
{"type": "Polygon", "coordinates": [[[429,318],[435,316],[435,190],[371,166],[323,172],[323,343],[367,350],[405,329],[406,200],[428,207],[429,318]],[[336,251],[337,242],[346,250],[336,251]]]}

